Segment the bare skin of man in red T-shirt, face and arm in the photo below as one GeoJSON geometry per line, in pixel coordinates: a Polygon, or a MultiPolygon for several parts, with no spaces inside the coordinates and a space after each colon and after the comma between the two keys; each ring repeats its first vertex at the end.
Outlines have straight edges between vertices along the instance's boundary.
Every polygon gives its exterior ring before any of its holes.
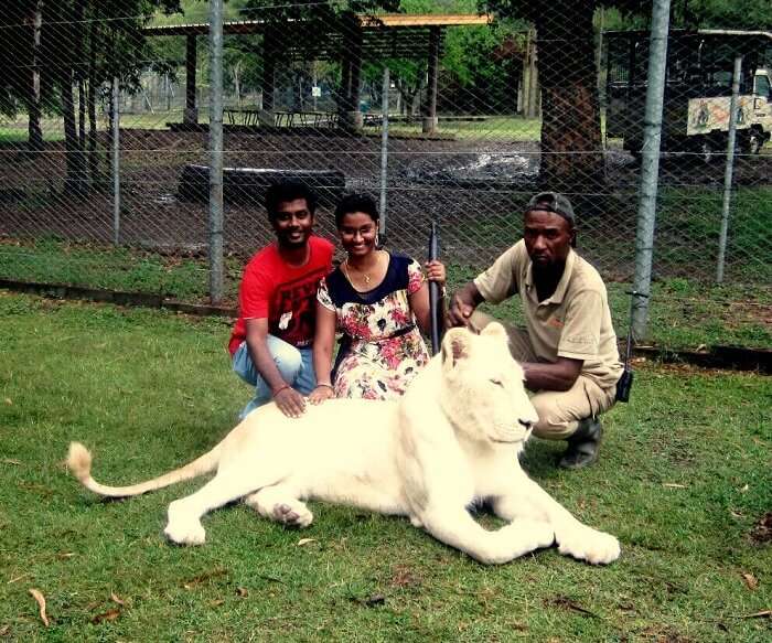
{"type": "MultiPolygon", "coordinates": [[[[313,213],[304,199],[282,201],[271,217],[279,255],[291,266],[302,266],[309,259],[309,237],[313,227],[313,213]]],[[[300,417],[305,409],[305,399],[285,382],[268,351],[268,320],[248,319],[247,349],[255,368],[268,383],[274,400],[281,412],[291,418],[300,417]]]]}

